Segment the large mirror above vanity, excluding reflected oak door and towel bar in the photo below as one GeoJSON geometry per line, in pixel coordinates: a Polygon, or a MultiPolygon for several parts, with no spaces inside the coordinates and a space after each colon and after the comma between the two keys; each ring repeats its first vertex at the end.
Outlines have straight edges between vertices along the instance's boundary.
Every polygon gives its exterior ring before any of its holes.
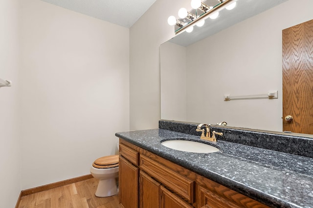
{"type": "Polygon", "coordinates": [[[282,30],[313,19],[313,1],[237,7],[160,46],[161,119],[282,132],[282,30]],[[277,99],[224,101],[271,91],[277,99]]]}

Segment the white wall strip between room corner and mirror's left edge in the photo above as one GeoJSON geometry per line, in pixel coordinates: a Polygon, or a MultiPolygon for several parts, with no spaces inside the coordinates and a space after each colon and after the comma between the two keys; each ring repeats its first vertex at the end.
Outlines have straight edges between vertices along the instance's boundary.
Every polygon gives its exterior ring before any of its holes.
{"type": "Polygon", "coordinates": [[[156,0],[130,28],[130,128],[158,128],[160,119],[159,46],[174,34],[167,18],[190,0],[156,0]]]}

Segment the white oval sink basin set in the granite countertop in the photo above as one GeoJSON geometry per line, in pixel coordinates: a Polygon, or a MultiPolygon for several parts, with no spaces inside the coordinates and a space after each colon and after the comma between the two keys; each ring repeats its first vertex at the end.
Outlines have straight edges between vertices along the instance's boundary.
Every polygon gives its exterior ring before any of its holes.
{"type": "Polygon", "coordinates": [[[188,151],[197,153],[212,153],[220,151],[219,149],[211,145],[188,140],[168,140],[161,142],[161,144],[164,145],[165,147],[179,151],[188,151]]]}

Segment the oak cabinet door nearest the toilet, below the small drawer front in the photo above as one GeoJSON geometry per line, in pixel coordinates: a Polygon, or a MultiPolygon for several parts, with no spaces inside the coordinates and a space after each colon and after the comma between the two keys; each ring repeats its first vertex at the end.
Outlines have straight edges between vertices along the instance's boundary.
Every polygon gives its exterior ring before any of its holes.
{"type": "Polygon", "coordinates": [[[124,208],[139,207],[139,169],[119,157],[119,202],[124,208]]]}

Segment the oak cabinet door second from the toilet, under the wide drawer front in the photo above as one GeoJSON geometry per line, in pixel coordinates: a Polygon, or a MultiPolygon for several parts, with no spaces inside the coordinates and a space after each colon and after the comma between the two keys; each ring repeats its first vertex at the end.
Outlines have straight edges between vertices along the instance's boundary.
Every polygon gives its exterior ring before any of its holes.
{"type": "Polygon", "coordinates": [[[160,207],[160,184],[145,172],[139,173],[140,208],[160,207]]]}

